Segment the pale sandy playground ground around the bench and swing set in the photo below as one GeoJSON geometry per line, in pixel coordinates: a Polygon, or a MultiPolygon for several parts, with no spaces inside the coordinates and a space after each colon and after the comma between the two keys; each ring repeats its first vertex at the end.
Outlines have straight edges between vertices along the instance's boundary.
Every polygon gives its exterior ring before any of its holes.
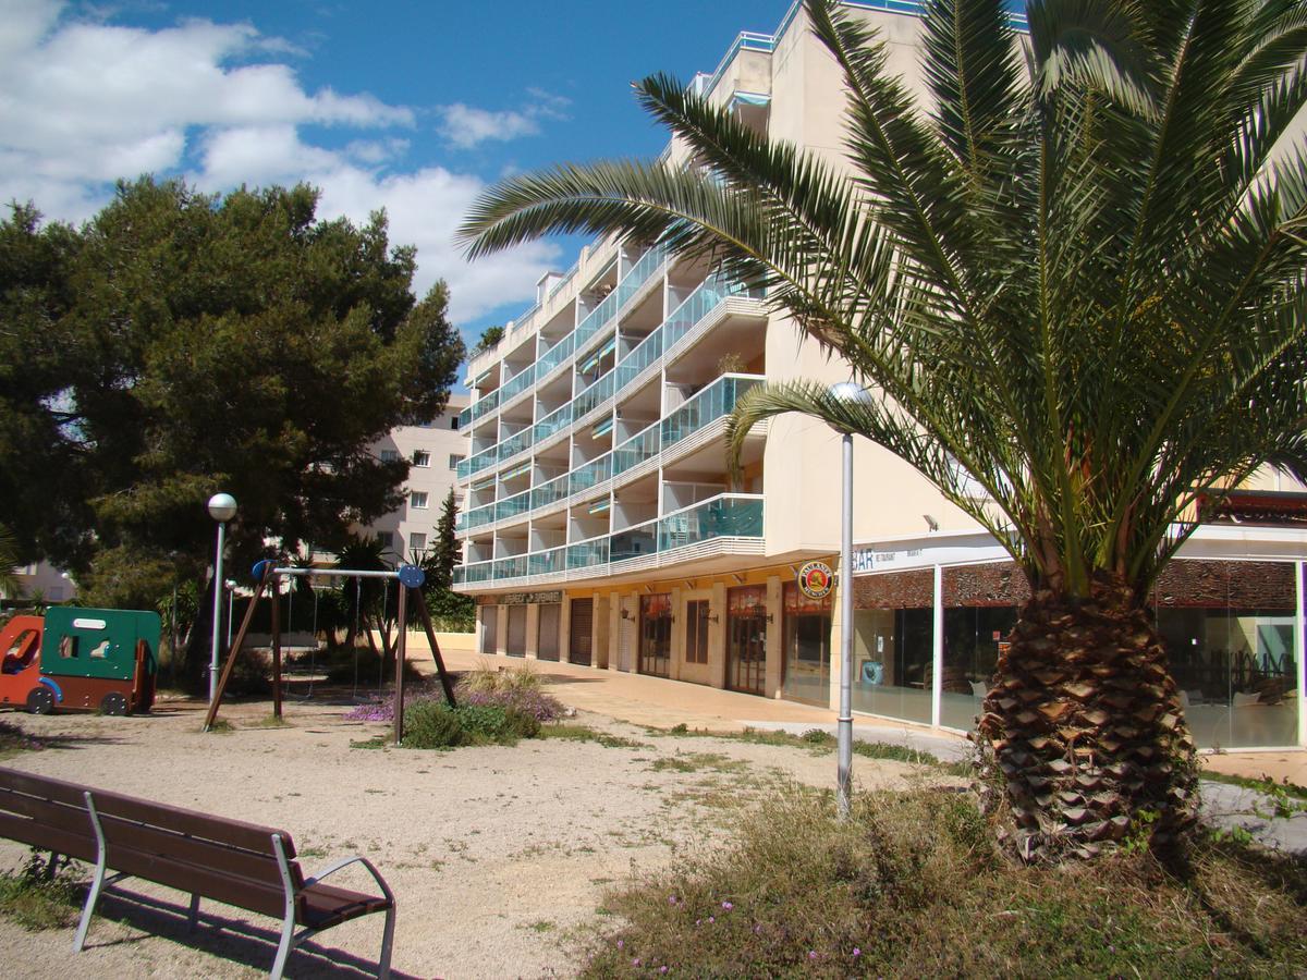
{"type": "MultiPolygon", "coordinates": [[[[397,895],[396,975],[418,977],[569,976],[578,930],[600,921],[606,887],[719,840],[757,792],[834,780],[831,754],[664,737],[584,711],[576,721],[640,746],[367,750],[350,743],[388,727],[346,721],[348,707],[291,702],[290,725],[272,728],[267,703],[231,706],[230,734],[201,734],[200,706],[186,702],[163,702],[150,717],[9,715],[52,745],[4,764],[284,827],[307,873],[366,855],[397,895]]],[[[924,777],[865,759],[856,776],[865,789],[924,777]]],[[[0,869],[25,856],[0,841],[0,869]]],[[[366,887],[359,874],[341,883],[366,887]]],[[[187,933],[186,895],[124,887],[137,900],[106,899],[77,955],[72,928],[31,933],[0,920],[0,972],[234,977],[271,967],[273,920],[205,903],[201,926],[187,933]]],[[[323,933],[291,956],[288,975],[367,975],[380,933],[382,916],[323,933]]]]}

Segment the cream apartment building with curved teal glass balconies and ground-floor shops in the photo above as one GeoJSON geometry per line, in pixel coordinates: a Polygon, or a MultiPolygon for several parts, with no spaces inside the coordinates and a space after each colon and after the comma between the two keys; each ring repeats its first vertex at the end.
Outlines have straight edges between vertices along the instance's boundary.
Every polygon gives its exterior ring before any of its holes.
{"type": "MultiPolygon", "coordinates": [[[[919,8],[850,4],[924,97],[919,8]]],[[[840,76],[799,4],[694,84],[759,131],[840,159],[840,76]]],[[[669,161],[681,154],[673,142],[669,161]]],[[[752,433],[737,478],[724,455],[736,400],[792,378],[847,374],[763,297],[655,243],[595,242],[545,276],[535,306],[469,365],[455,587],[477,598],[478,649],[833,707],[831,651],[851,629],[856,711],[971,728],[1023,576],[915,470],[859,440],[843,576],[853,622],[839,622],[838,589],[809,597],[801,576],[838,570],[839,436],[783,416],[752,433]]],[[[1158,587],[1204,746],[1307,745],[1300,490],[1259,478],[1158,587]]]]}

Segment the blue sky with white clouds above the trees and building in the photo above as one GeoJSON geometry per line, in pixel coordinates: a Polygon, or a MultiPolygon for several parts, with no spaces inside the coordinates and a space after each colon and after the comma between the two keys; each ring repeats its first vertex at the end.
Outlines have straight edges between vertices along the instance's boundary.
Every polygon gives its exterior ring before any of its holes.
{"type": "Polygon", "coordinates": [[[791,0],[0,0],[0,197],[81,221],[116,178],[205,191],[307,180],[319,213],[386,208],[450,282],[469,338],[524,310],[575,242],[469,265],[451,240],[489,183],[667,142],[630,82],[711,72],[791,0]]]}

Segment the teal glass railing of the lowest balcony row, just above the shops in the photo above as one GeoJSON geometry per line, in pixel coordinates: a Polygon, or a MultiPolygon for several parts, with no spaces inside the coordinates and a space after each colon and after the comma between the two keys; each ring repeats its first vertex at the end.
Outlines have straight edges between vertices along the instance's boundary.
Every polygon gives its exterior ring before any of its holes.
{"type": "MultiPolygon", "coordinates": [[[[644,521],[634,528],[571,545],[463,564],[454,570],[455,584],[499,583],[528,575],[604,571],[633,558],[667,554],[678,547],[720,537],[761,540],[762,497],[719,494],[702,503],[644,521]]],[[[613,571],[620,571],[613,568],[613,571]]]]}

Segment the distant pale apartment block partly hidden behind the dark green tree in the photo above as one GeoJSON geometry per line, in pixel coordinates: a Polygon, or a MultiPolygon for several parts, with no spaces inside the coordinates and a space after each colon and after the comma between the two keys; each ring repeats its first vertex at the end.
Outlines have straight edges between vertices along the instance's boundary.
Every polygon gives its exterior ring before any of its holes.
{"type": "MultiPolygon", "coordinates": [[[[399,426],[371,447],[380,460],[409,461],[404,503],[362,532],[380,538],[393,561],[420,562],[435,541],[444,498],[468,452],[468,440],[459,430],[459,414],[468,402],[467,395],[451,395],[444,412],[427,425],[399,426]]],[[[455,490],[455,499],[460,495],[455,490]]]]}

